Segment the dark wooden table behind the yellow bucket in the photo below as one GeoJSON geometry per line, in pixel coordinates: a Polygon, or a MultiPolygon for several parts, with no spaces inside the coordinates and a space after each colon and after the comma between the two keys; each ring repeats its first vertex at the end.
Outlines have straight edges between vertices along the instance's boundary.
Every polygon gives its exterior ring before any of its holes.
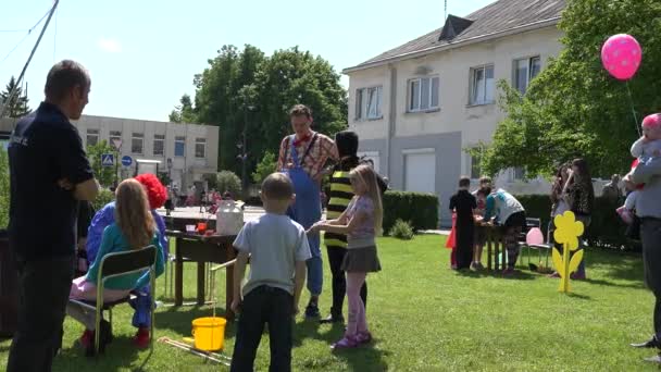
{"type": "MultiPolygon", "coordinates": [[[[179,231],[169,231],[167,236],[176,239],[174,305],[184,303],[184,258],[198,263],[198,297],[197,303],[204,305],[204,264],[207,262],[225,263],[236,258],[236,250],[232,246],[235,235],[186,234],[179,231]]],[[[227,266],[225,276],[225,318],[234,319],[232,311],[232,295],[234,290],[234,265],[227,266]]]]}

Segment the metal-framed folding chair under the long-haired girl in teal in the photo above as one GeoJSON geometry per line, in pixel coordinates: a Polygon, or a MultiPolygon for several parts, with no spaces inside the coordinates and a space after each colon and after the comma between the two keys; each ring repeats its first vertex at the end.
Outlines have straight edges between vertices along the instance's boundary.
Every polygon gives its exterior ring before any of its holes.
{"type": "MultiPolygon", "coordinates": [[[[95,354],[99,354],[99,345],[101,340],[101,318],[103,311],[109,312],[109,322],[112,330],[112,308],[116,305],[128,302],[130,296],[126,296],[116,301],[104,302],[103,301],[103,288],[105,281],[112,277],[117,277],[126,274],[133,274],[138,272],[149,271],[149,284],[152,290],[152,298],[155,298],[155,270],[154,265],[157,262],[158,249],[154,246],[148,246],[139,250],[133,250],[127,252],[109,253],[101,260],[101,266],[99,268],[99,275],[97,278],[97,300],[85,301],[70,299],[72,303],[76,303],[85,309],[96,311],[96,332],[95,332],[95,354]]],[[[153,312],[154,302],[151,301],[151,325],[149,331],[149,343],[153,343],[153,312]]]]}

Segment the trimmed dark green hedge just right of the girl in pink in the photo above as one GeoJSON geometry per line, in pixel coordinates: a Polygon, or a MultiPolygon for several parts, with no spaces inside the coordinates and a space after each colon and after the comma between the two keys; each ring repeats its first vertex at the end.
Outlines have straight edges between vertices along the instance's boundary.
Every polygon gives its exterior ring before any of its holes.
{"type": "Polygon", "coordinates": [[[438,197],[433,194],[386,191],[384,232],[389,232],[397,220],[409,221],[413,231],[438,228],[438,197]]]}

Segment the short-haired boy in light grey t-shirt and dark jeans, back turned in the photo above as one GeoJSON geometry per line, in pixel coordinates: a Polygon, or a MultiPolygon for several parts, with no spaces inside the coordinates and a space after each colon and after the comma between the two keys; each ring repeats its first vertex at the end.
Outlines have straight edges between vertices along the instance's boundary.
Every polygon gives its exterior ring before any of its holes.
{"type": "Polygon", "coordinates": [[[234,270],[232,310],[240,312],[230,371],[252,371],[254,356],[269,324],[271,371],[291,370],[291,326],[305,283],[310,246],[305,230],[286,214],[294,202],[294,185],[283,173],[264,179],[261,191],[266,214],[246,223],[234,247],[239,251],[234,270]],[[240,283],[250,258],[250,274],[240,283]]]}

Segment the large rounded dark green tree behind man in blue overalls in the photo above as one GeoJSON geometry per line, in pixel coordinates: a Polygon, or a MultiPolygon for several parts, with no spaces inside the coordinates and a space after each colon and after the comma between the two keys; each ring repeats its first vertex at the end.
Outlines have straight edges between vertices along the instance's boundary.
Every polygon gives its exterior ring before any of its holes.
{"type": "Polygon", "coordinates": [[[246,152],[251,174],[265,152],[277,151],[291,132],[288,110],[296,103],[313,109],[315,131],[334,134],[347,127],[347,92],[339,75],[321,57],[298,48],[265,57],[249,45],[242,50],[224,46],[194,83],[197,122],[221,127],[221,169],[240,173],[237,156],[246,152]],[[242,145],[244,131],[246,151],[237,146],[242,145]]]}

